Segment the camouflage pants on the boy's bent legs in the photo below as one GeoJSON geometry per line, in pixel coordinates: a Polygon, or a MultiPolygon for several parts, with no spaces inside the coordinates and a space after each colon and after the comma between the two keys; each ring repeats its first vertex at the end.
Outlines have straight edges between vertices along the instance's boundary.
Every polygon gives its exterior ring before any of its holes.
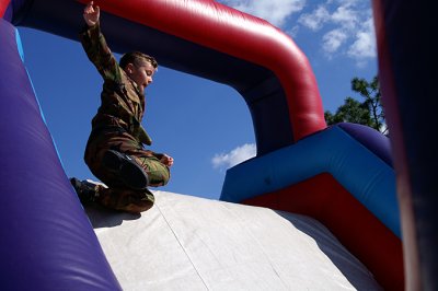
{"type": "Polygon", "coordinates": [[[151,151],[145,150],[129,133],[103,132],[90,137],[84,155],[91,172],[108,186],[108,188],[99,186],[96,201],[107,208],[136,213],[151,208],[154,202],[151,191],[134,190],[117,184],[117,177],[102,165],[103,154],[107,150],[130,155],[148,174],[149,186],[163,186],[170,178],[169,167],[161,163],[151,151]]]}

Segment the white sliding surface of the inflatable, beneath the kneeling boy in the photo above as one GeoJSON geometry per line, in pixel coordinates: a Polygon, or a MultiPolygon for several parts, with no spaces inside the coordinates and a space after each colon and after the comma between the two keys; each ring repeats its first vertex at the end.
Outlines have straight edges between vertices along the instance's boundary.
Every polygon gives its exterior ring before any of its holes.
{"type": "Polygon", "coordinates": [[[124,290],[381,290],[312,218],[153,193],[141,216],[85,209],[124,290]]]}

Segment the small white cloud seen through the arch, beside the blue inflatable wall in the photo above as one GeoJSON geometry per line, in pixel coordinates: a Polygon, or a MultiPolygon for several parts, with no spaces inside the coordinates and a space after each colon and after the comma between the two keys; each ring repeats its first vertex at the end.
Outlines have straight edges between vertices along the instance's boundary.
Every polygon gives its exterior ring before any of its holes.
{"type": "Polygon", "coordinates": [[[215,168],[229,168],[247,159],[255,156],[256,147],[254,143],[245,143],[230,151],[229,153],[215,154],[211,159],[215,168]]]}

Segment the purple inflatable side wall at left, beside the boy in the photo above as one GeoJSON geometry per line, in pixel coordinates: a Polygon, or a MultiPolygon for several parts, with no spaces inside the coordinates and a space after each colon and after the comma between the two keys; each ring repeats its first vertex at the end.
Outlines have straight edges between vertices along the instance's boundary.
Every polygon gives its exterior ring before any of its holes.
{"type": "Polygon", "coordinates": [[[120,290],[59,162],[16,35],[0,19],[0,288],[120,290]]]}

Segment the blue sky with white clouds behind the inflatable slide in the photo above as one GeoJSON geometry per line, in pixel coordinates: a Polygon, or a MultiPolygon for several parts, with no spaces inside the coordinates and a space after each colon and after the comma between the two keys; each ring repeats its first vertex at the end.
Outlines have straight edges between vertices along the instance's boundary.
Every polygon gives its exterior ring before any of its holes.
{"type": "MultiPolygon", "coordinates": [[[[308,56],[325,110],[335,112],[354,77],[377,74],[370,1],[217,1],[281,28],[308,56]]],[[[105,21],[104,19],[102,21],[105,21]]],[[[19,28],[37,97],[67,175],[92,178],[83,162],[102,80],[79,43],[19,28]]],[[[110,44],[111,47],[111,44],[110,44]]],[[[119,58],[119,55],[116,55],[119,58]]],[[[151,150],[175,159],[159,189],[218,199],[228,167],[255,154],[250,112],[233,89],[160,67],[147,89],[151,150]]]]}

